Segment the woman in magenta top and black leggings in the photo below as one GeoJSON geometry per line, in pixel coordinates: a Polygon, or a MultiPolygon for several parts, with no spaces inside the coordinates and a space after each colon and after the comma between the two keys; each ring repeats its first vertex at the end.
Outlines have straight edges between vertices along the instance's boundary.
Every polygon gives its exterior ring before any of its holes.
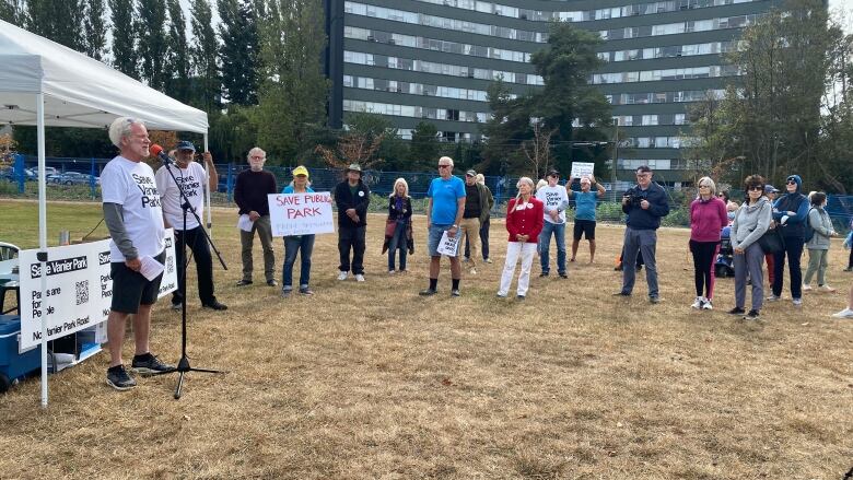
{"type": "Polygon", "coordinates": [[[696,301],[693,308],[710,311],[714,296],[714,264],[720,253],[720,232],[728,225],[726,204],[716,197],[709,177],[699,179],[699,197],[690,203],[690,253],[693,254],[696,301]]]}

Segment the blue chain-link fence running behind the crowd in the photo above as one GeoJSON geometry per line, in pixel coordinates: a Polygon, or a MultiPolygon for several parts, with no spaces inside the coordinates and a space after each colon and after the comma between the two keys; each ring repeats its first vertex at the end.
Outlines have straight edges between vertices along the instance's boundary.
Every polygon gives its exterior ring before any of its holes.
{"type": "MultiPolygon", "coordinates": [[[[101,187],[98,177],[109,159],[67,159],[48,157],[46,167],[48,174],[48,200],[100,200],[101,187]]],[[[36,184],[38,159],[34,156],[15,155],[11,166],[0,171],[0,196],[15,198],[37,198],[36,184]]],[[[245,169],[245,164],[217,164],[219,185],[211,192],[211,203],[218,206],[233,204],[234,184],[239,172],[245,169]]],[[[267,166],[276,176],[279,189],[284,188],[292,179],[293,167],[267,166]]],[[[346,177],[340,169],[308,168],[312,188],[315,191],[331,191],[335,186],[346,177]]],[[[461,175],[461,172],[456,172],[461,175]]],[[[430,182],[437,176],[437,172],[383,172],[365,171],[362,179],[370,187],[372,195],[371,211],[384,212],[388,203],[385,200],[394,189],[397,178],[405,178],[409,184],[409,195],[412,197],[412,208],[416,213],[423,213],[425,208],[426,189],[430,182]]],[[[494,216],[503,216],[506,212],[506,202],[517,194],[516,184],[518,177],[512,176],[486,176],[486,185],[494,196],[494,216]]],[[[601,183],[607,192],[598,203],[597,218],[604,222],[622,222],[624,214],[619,204],[621,196],[631,184],[618,182],[616,188],[612,184],[601,183]]],[[[572,189],[579,190],[575,182],[572,189]]],[[[665,187],[669,195],[670,213],[663,224],[665,226],[689,226],[689,204],[692,190],[676,190],[665,187]]],[[[743,191],[732,191],[732,199],[739,201],[743,191]]],[[[828,197],[827,211],[836,224],[838,232],[846,232],[853,219],[853,196],[830,195],[828,197]]],[[[571,219],[574,214],[573,206],[568,212],[571,219]]]]}

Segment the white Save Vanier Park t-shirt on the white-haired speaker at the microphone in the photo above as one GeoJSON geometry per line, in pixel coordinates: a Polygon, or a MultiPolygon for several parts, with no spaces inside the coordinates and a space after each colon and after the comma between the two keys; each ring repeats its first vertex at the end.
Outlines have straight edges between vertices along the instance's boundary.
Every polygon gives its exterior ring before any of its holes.
{"type": "MultiPolygon", "coordinates": [[[[125,230],[140,257],[154,257],[165,248],[165,229],[154,171],[143,162],[124,156],[110,160],[101,173],[104,203],[124,208],[125,230]]],[[[112,261],[125,261],[114,241],[109,242],[112,261]]]]}

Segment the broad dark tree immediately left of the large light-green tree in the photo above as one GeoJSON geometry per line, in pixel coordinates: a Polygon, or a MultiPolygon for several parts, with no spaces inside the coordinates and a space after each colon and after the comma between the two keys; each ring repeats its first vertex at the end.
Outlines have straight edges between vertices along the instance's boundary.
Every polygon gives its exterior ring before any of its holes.
{"type": "Polygon", "coordinates": [[[255,8],[246,0],[219,0],[222,90],[236,105],[257,104],[258,26],[255,8]]]}

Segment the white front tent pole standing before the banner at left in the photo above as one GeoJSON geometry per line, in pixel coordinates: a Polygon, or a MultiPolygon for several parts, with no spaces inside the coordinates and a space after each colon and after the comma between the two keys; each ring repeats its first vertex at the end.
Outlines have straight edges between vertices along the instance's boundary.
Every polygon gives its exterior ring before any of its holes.
{"type": "Polygon", "coordinates": [[[45,94],[36,96],[38,150],[38,260],[42,262],[42,408],[47,408],[47,188],[45,185],[45,94]]]}

